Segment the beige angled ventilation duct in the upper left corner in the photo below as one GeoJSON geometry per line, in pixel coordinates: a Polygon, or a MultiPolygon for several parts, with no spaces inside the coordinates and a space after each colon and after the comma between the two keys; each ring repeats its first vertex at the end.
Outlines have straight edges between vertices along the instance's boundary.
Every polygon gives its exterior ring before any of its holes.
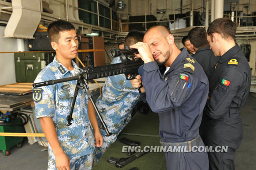
{"type": "Polygon", "coordinates": [[[40,20],[40,0],[13,0],[12,15],[5,27],[4,37],[33,39],[40,20]]]}

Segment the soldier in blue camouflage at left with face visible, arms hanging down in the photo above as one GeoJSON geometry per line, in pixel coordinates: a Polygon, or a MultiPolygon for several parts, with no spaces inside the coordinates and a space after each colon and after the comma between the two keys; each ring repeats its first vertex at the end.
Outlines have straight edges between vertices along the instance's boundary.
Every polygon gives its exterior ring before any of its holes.
{"type": "MultiPolygon", "coordinates": [[[[35,83],[68,78],[80,73],[79,67],[72,61],[78,49],[78,37],[74,26],[67,21],[54,21],[48,27],[48,34],[56,56],[53,62],[38,74],[35,83]]],[[[65,125],[71,109],[76,81],[33,88],[35,116],[40,118],[48,141],[49,170],[89,170],[94,162],[94,145],[97,147],[102,145],[103,138],[94,108],[81,89],[76,98],[72,124],[65,125]],[[94,129],[96,143],[91,126],[94,129]]]]}

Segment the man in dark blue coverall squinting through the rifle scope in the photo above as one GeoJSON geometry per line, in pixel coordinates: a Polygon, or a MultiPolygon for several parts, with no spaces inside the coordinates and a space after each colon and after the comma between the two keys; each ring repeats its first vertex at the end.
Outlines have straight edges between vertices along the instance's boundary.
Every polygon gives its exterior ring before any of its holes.
{"type": "Polygon", "coordinates": [[[192,148],[204,146],[199,135],[203,108],[208,96],[208,80],[199,63],[182,52],[174,37],[163,26],[154,26],[145,33],[143,42],[130,46],[137,48],[144,61],[139,74],[132,80],[133,87],[143,86],[141,97],[151,110],[159,115],[159,133],[162,146],[186,146],[189,152],[166,152],[167,169],[208,170],[205,152],[192,148]],[[165,65],[162,75],[159,65],[165,65]],[[140,77],[141,76],[141,77],[140,77]]]}

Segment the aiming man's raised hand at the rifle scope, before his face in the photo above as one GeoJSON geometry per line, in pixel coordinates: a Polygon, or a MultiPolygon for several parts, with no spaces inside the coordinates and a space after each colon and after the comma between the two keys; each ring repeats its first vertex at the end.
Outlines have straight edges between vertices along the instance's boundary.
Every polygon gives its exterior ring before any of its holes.
{"type": "Polygon", "coordinates": [[[130,46],[130,48],[138,49],[139,54],[137,54],[136,57],[140,57],[144,63],[155,61],[151,54],[150,46],[147,43],[138,42],[130,46]]]}

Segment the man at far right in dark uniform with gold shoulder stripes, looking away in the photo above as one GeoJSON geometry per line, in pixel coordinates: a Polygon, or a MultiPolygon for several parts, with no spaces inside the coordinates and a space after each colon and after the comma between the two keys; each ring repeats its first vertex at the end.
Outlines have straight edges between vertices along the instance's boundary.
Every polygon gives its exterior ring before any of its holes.
{"type": "Polygon", "coordinates": [[[236,23],[230,19],[214,20],[207,40],[215,56],[221,56],[210,79],[210,99],[204,114],[207,118],[205,145],[228,146],[227,152],[209,152],[210,169],[233,170],[234,154],[242,141],[240,107],[245,104],[251,86],[249,64],[235,43],[236,23]]]}

